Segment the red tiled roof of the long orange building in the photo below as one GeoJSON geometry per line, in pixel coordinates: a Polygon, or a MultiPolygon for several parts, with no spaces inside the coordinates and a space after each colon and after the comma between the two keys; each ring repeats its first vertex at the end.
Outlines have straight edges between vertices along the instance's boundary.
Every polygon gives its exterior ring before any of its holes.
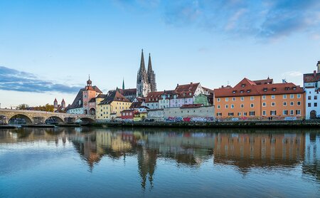
{"type": "Polygon", "coordinates": [[[274,95],[285,93],[304,93],[303,88],[294,83],[274,83],[257,85],[254,81],[243,78],[234,88],[215,89],[215,98],[245,95],[274,95]]]}

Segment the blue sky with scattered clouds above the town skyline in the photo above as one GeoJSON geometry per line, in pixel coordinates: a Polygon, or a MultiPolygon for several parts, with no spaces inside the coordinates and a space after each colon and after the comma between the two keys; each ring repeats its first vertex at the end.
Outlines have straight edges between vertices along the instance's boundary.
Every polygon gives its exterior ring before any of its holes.
{"type": "Polygon", "coordinates": [[[135,88],[142,48],[158,90],[302,85],[320,61],[320,1],[1,0],[1,108],[72,103],[88,75],[103,92],[135,88]]]}

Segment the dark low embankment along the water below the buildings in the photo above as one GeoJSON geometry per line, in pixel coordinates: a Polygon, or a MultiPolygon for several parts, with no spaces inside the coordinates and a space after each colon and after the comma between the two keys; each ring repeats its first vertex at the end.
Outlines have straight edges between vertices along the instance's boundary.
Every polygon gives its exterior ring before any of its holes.
{"type": "Polygon", "coordinates": [[[320,121],[243,121],[243,122],[207,122],[207,123],[191,123],[191,122],[135,122],[135,123],[122,123],[122,122],[110,122],[110,123],[95,123],[89,126],[102,126],[107,127],[203,127],[203,128],[215,128],[215,127],[320,127],[320,121]]]}

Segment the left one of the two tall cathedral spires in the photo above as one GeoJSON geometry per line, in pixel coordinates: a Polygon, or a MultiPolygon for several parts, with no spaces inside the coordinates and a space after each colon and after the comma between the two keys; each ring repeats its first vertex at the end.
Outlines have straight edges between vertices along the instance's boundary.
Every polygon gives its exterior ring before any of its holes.
{"type": "Polygon", "coordinates": [[[150,92],[146,66],[144,66],[144,50],[141,53],[140,68],[137,74],[137,96],[146,97],[150,92]]]}

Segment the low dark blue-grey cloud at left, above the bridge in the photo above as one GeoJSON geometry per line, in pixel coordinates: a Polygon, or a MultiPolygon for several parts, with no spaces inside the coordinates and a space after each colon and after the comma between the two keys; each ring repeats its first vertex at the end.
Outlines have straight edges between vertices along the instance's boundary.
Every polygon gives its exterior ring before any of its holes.
{"type": "Polygon", "coordinates": [[[58,92],[76,93],[80,87],[63,85],[49,80],[38,79],[32,73],[17,71],[0,66],[0,90],[16,90],[21,92],[58,92]]]}

